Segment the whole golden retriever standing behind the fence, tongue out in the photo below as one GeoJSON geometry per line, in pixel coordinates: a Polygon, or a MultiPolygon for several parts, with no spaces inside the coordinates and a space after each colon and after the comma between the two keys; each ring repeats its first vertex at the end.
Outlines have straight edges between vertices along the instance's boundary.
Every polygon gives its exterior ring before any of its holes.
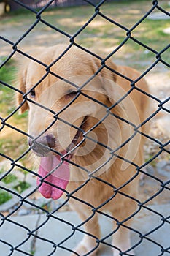
{"type": "Polygon", "coordinates": [[[27,59],[19,73],[20,110],[29,111],[28,145],[39,162],[37,187],[46,198],[69,198],[84,222],[77,255],[97,255],[98,217],[108,212],[113,255],[133,254],[128,227],[144,164],[147,83],[131,85],[140,74],[130,67],[101,63],[76,46],[64,50],[37,51],[39,63],[27,59]]]}

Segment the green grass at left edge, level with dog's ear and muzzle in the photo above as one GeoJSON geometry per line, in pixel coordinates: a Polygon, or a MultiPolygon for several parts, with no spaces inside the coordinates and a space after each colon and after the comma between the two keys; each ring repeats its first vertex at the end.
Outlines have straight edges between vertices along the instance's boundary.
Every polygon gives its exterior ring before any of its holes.
{"type": "MultiPolygon", "coordinates": [[[[7,59],[7,56],[0,56],[0,64],[7,59]]],[[[7,61],[0,69],[0,80],[4,83],[9,84],[10,86],[15,87],[15,75],[16,75],[16,63],[13,59],[7,61]]],[[[7,116],[15,110],[15,91],[10,89],[8,86],[5,86],[0,82],[0,109],[1,118],[7,118],[7,116]]],[[[26,127],[26,119],[28,113],[23,113],[19,115],[18,113],[9,118],[7,123],[14,127],[19,127],[21,130],[26,127]]],[[[23,142],[23,136],[19,135],[18,132],[15,132],[12,129],[4,126],[3,131],[0,133],[0,148],[1,153],[6,154],[12,158],[18,158],[22,154],[27,146],[25,141],[23,142]],[[7,135],[6,135],[7,134],[7,135]]]]}

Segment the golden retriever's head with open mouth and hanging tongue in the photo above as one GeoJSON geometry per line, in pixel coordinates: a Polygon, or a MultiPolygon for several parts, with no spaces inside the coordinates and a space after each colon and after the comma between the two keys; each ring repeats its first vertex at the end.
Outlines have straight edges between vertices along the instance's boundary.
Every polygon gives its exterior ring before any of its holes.
{"type": "Polygon", "coordinates": [[[78,48],[61,57],[63,50],[58,46],[38,53],[39,63],[26,61],[19,75],[20,110],[29,110],[28,144],[41,158],[39,190],[54,199],[63,194],[70,179],[80,179],[69,171],[77,169],[77,163],[81,163],[79,176],[82,172],[86,177],[102,165],[107,167],[104,162],[110,152],[122,143],[115,115],[123,106],[115,103],[125,94],[117,86],[111,61],[104,67],[78,48]]]}

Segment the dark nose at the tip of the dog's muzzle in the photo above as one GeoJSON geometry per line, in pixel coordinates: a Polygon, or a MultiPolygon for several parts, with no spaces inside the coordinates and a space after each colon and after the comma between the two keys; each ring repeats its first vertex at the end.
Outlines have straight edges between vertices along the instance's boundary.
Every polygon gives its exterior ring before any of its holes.
{"type": "Polygon", "coordinates": [[[34,141],[29,138],[28,145],[39,157],[45,157],[50,152],[50,149],[55,147],[55,138],[53,135],[45,135],[34,141]]]}

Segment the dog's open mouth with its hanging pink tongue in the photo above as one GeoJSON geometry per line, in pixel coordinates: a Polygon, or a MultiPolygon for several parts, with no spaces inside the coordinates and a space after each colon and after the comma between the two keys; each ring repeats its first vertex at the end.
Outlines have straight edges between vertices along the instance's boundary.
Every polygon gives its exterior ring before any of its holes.
{"type": "Polygon", "coordinates": [[[85,131],[86,121],[87,117],[85,116],[72,142],[66,150],[61,152],[61,156],[58,154],[49,154],[46,157],[41,157],[37,184],[39,186],[39,192],[44,197],[58,199],[66,190],[70,177],[69,161],[73,156],[74,150],[83,141],[82,134],[85,131]]]}

